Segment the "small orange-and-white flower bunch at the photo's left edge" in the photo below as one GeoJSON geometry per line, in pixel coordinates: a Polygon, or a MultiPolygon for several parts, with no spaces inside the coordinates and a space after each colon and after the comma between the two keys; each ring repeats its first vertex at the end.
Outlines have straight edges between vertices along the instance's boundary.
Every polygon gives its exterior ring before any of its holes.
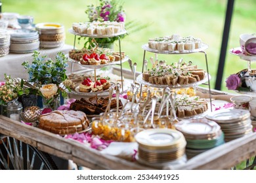
{"type": "Polygon", "coordinates": [[[29,90],[23,86],[23,83],[23,80],[16,82],[5,74],[5,82],[0,82],[0,105],[7,105],[19,96],[28,94],[29,90]]]}

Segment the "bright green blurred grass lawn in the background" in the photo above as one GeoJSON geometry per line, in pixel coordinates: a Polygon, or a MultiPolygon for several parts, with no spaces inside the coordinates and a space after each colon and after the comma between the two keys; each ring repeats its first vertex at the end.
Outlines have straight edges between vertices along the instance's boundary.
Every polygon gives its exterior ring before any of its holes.
{"type": "MultiPolygon", "coordinates": [[[[73,22],[88,21],[85,9],[87,5],[98,1],[89,0],[3,0],[3,12],[18,12],[19,14],[31,15],[34,23],[58,22],[66,27],[66,44],[73,44],[74,35],[68,33],[73,22]]],[[[192,35],[200,37],[203,42],[209,45],[206,50],[209,61],[209,73],[211,74],[211,86],[215,86],[217,66],[221,49],[221,40],[226,12],[227,1],[223,0],[148,0],[125,1],[125,12],[127,21],[137,20],[150,24],[146,29],[131,33],[121,41],[122,50],[142,67],[143,50],[142,44],[148,42],[148,38],[172,35],[178,33],[182,36],[192,35]]],[[[242,33],[255,33],[256,29],[256,1],[236,0],[234,14],[228,41],[228,50],[239,46],[239,35],[242,33]]],[[[77,44],[78,48],[82,47],[77,44]]],[[[117,50],[117,45],[116,45],[117,50]]],[[[146,59],[154,56],[146,53],[146,59]]],[[[180,58],[184,61],[193,61],[199,67],[205,69],[205,59],[203,54],[188,55],[159,55],[159,59],[165,59],[169,63],[176,62],[180,58]]],[[[252,65],[255,67],[255,63],[252,65]]],[[[125,67],[128,67],[125,63],[125,67]]],[[[247,62],[231,54],[226,54],[226,65],[224,67],[223,88],[226,90],[226,77],[245,69],[247,62]]]]}

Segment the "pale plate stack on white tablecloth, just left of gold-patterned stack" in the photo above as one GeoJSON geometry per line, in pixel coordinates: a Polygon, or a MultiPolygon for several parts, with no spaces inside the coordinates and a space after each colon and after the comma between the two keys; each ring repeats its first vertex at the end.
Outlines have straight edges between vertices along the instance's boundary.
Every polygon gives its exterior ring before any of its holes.
{"type": "Polygon", "coordinates": [[[30,53],[39,49],[39,35],[37,31],[29,29],[13,29],[10,31],[12,53],[30,53]]]}

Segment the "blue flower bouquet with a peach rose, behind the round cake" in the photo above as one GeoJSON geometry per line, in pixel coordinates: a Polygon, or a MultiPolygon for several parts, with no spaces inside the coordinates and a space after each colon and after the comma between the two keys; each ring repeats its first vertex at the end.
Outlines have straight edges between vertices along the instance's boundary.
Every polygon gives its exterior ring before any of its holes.
{"type": "MultiPolygon", "coordinates": [[[[39,52],[33,52],[32,64],[24,61],[22,65],[28,71],[30,82],[34,83],[35,93],[43,97],[45,105],[49,108],[56,109],[55,102],[62,93],[63,97],[67,96],[66,90],[70,90],[66,80],[66,67],[68,66],[68,58],[64,53],[58,52],[55,59],[39,56],[39,52]]],[[[57,103],[57,105],[59,105],[57,103]]]]}

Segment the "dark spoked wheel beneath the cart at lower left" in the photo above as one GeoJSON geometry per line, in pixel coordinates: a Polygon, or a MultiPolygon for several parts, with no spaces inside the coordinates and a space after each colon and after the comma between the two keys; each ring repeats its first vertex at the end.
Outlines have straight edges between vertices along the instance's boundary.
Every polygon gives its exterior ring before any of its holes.
{"type": "Polygon", "coordinates": [[[0,170],[51,170],[58,169],[51,156],[0,134],[0,170]]]}

